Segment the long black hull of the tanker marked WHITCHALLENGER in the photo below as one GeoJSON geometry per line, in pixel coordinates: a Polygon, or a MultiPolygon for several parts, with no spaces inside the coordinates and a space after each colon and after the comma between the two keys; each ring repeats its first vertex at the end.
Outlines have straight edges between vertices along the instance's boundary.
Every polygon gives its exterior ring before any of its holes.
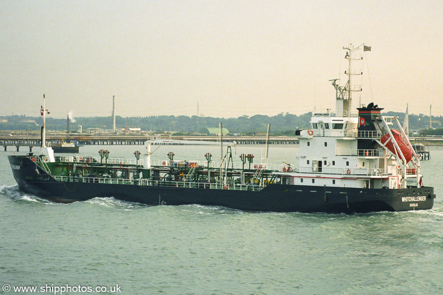
{"type": "Polygon", "coordinates": [[[30,159],[9,156],[21,190],[55,202],[96,197],[146,205],[222,206],[247,211],[367,213],[430,209],[434,188],[360,189],[269,184],[260,191],[57,181],[30,159]],[[38,173],[36,172],[38,170],[38,173]]]}

